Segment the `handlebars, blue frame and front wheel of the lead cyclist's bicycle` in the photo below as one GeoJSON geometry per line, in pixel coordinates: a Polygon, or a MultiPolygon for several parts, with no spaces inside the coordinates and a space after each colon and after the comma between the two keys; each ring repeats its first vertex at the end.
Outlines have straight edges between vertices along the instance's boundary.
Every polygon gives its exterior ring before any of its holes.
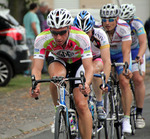
{"type": "MultiPolygon", "coordinates": [[[[43,80],[35,80],[35,76],[32,76],[32,93],[34,93],[34,89],[36,88],[36,85],[38,83],[44,83],[44,82],[52,82],[56,85],[57,87],[57,92],[58,92],[58,105],[56,106],[56,116],[55,116],[55,139],[59,139],[59,134],[60,133],[64,133],[65,134],[65,138],[72,139],[71,136],[71,132],[70,132],[70,124],[69,124],[69,109],[71,107],[67,107],[66,106],[66,95],[70,95],[69,93],[67,93],[66,91],[66,85],[65,82],[66,81],[73,81],[73,80],[80,80],[81,84],[83,85],[84,88],[84,84],[85,84],[85,77],[84,77],[84,73],[81,72],[80,73],[81,77],[70,77],[70,78],[64,78],[64,77],[52,77],[51,79],[43,79],[43,80]],[[64,121],[64,131],[61,130],[61,124],[64,121]]],[[[72,91],[72,89],[70,89],[69,91],[72,91]]],[[[35,98],[36,100],[38,99],[35,98]]],[[[73,101],[73,98],[70,99],[70,101],[73,101]]],[[[64,137],[64,136],[63,136],[64,137]]],[[[62,136],[60,137],[62,139],[62,136]]]]}

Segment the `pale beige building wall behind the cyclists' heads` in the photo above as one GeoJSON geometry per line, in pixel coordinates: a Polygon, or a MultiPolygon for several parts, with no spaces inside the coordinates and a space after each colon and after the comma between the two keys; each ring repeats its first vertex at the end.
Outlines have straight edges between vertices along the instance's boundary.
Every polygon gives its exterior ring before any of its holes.
{"type": "MultiPolygon", "coordinates": [[[[58,2],[58,0],[39,0],[39,1],[47,1],[50,5],[49,7],[52,9],[57,7],[56,5],[54,5],[54,3],[56,3],[56,1],[58,2]]],[[[60,2],[62,1],[68,9],[74,9],[74,5],[67,2],[68,0],[60,0],[60,2]]],[[[100,9],[102,5],[107,3],[114,3],[118,5],[123,3],[133,3],[136,6],[136,15],[141,18],[143,23],[145,23],[146,19],[150,17],[150,8],[149,8],[150,0],[79,0],[78,3],[79,3],[78,6],[79,9],[83,9],[83,8],[100,9]]]]}

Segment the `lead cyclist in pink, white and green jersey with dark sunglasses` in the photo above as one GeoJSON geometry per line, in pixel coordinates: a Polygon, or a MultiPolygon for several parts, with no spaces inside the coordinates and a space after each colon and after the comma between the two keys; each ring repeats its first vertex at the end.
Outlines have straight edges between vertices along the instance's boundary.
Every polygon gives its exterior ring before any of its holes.
{"type": "MultiPolygon", "coordinates": [[[[41,71],[45,56],[48,63],[50,78],[53,76],[66,77],[68,69],[71,77],[80,76],[85,70],[85,89],[80,82],[75,82],[73,95],[79,114],[79,129],[83,139],[90,139],[92,134],[92,116],[88,108],[87,97],[93,78],[92,52],[90,39],[86,33],[71,26],[72,17],[66,9],[55,9],[47,16],[49,29],[40,33],[35,40],[32,74],[41,79],[41,71]]],[[[31,90],[31,89],[30,89],[31,90]]],[[[57,105],[57,88],[50,83],[53,103],[57,105]]],[[[40,85],[36,87],[32,97],[40,93],[40,85]]]]}

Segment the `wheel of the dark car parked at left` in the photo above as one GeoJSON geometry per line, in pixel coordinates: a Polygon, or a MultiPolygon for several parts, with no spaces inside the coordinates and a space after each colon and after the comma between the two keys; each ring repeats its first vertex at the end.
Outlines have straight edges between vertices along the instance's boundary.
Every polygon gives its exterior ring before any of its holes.
{"type": "Polygon", "coordinates": [[[13,70],[11,64],[0,57],[0,86],[6,86],[11,80],[13,70]]]}

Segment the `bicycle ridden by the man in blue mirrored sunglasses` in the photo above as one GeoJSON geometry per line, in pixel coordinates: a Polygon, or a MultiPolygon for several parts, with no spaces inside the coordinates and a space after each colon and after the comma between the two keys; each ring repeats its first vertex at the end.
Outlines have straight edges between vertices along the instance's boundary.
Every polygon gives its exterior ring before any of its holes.
{"type": "Polygon", "coordinates": [[[128,63],[116,63],[112,62],[112,70],[110,77],[108,79],[108,84],[110,86],[110,91],[107,93],[105,99],[106,102],[109,102],[109,107],[106,107],[106,112],[108,114],[106,118],[107,123],[107,138],[110,139],[124,139],[125,134],[122,132],[122,118],[123,118],[123,109],[121,102],[121,90],[119,87],[119,80],[117,78],[116,67],[124,66],[125,73],[128,71],[128,63]]]}

